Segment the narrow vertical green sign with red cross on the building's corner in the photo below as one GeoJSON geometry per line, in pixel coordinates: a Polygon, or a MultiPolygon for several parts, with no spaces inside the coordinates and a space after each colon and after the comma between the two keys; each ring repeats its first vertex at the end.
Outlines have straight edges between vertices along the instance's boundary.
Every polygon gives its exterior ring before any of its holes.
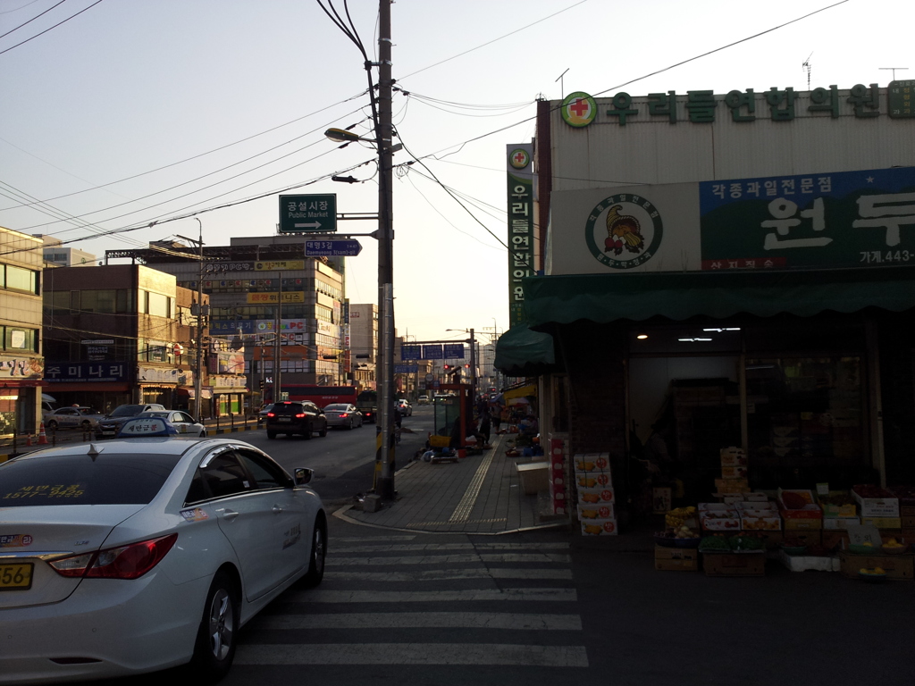
{"type": "Polygon", "coordinates": [[[509,326],[525,320],[521,280],[533,276],[533,144],[507,145],[509,326]]]}

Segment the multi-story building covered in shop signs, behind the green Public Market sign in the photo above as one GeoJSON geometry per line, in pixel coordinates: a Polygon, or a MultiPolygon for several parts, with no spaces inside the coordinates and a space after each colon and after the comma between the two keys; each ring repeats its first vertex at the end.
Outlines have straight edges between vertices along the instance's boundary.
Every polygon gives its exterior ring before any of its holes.
{"type": "Polygon", "coordinates": [[[215,394],[247,388],[252,408],[270,402],[277,367],[281,392],[345,381],[342,258],[307,257],[301,236],[233,238],[204,246],[202,263],[199,251],[158,242],[147,250],[108,251],[105,259],[140,260],[210,295],[210,336],[223,348],[216,351],[218,366],[210,366],[215,394]]]}

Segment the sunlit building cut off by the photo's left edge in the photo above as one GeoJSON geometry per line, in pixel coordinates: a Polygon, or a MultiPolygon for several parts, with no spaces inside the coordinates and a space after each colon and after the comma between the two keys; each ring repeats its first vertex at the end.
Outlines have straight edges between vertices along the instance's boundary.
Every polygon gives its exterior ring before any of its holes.
{"type": "Polygon", "coordinates": [[[41,416],[41,266],[39,239],[0,227],[0,434],[41,416]]]}

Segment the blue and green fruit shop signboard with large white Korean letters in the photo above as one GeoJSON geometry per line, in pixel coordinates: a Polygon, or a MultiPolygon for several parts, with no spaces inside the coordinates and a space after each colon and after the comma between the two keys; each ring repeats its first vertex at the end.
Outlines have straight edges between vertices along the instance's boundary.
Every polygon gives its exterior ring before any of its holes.
{"type": "Polygon", "coordinates": [[[915,264],[915,167],[699,184],[702,268],[915,264]]]}

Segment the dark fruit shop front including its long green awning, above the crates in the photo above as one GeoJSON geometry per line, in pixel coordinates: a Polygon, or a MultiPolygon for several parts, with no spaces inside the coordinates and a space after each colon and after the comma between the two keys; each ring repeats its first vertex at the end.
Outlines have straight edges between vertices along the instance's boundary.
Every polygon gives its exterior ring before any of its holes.
{"type": "Polygon", "coordinates": [[[536,277],[525,311],[565,369],[569,453],[609,451],[623,492],[636,444],[653,446],[646,458],[682,482],[685,502],[716,492],[730,445],[745,449],[753,488],[905,484],[915,483],[912,276],[536,277]]]}

